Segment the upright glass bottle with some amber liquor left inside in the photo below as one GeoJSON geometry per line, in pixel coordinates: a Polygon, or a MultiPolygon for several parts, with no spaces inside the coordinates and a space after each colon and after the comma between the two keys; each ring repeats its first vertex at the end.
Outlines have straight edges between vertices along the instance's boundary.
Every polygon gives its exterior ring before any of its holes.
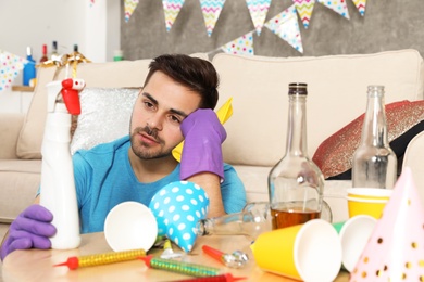
{"type": "Polygon", "coordinates": [[[320,218],[324,176],[308,156],[307,84],[289,84],[286,154],[271,169],[267,184],[272,229],[320,218]]]}

